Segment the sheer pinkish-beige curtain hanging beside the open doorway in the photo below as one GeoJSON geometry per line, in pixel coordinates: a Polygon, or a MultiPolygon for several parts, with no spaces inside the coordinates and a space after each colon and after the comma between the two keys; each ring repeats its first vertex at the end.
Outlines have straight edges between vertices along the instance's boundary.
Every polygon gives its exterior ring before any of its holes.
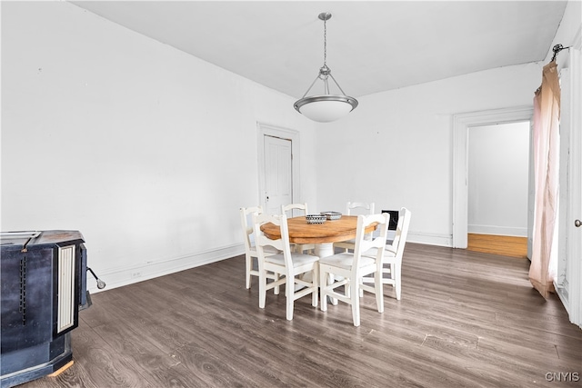
{"type": "Polygon", "coordinates": [[[554,292],[552,251],[557,252],[560,86],[555,61],[544,66],[534,97],[534,176],[536,199],[529,281],[544,298],[554,292]]]}

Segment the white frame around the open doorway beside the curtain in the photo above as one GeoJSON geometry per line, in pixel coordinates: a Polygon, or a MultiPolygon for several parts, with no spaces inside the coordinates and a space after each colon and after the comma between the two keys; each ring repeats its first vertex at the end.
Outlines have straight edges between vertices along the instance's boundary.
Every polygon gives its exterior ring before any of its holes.
{"type": "Polygon", "coordinates": [[[517,106],[453,115],[453,248],[467,249],[468,130],[471,126],[531,121],[532,106],[517,106]]]}

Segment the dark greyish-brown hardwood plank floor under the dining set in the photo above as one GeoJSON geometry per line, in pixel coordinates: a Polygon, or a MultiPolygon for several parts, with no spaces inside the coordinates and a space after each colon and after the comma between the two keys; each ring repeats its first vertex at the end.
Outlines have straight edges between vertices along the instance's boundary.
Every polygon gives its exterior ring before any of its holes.
{"type": "Polygon", "coordinates": [[[259,309],[238,256],[93,294],[73,366],[21,386],[582,386],[582,330],[531,287],[528,264],[406,244],[402,300],[385,286],[377,313],[366,294],[354,327],[350,306],[323,313],[310,296],[286,321],[283,290],[259,309]]]}

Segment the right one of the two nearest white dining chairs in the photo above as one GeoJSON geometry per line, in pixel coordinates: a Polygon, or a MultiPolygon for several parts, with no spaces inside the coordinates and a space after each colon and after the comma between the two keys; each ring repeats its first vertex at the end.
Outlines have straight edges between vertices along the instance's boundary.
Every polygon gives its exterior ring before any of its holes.
{"type": "Polygon", "coordinates": [[[384,312],[384,294],[382,292],[382,258],[386,246],[387,214],[370,214],[357,216],[356,246],[353,253],[343,252],[319,259],[319,284],[321,311],[327,310],[327,296],[352,305],[354,326],[360,325],[360,290],[376,295],[378,313],[384,312]],[[366,240],[366,227],[376,225],[379,235],[366,240]],[[376,257],[362,253],[376,248],[376,257]],[[374,285],[362,283],[362,277],[374,275],[374,285]],[[344,293],[336,290],[344,286],[344,293]]]}

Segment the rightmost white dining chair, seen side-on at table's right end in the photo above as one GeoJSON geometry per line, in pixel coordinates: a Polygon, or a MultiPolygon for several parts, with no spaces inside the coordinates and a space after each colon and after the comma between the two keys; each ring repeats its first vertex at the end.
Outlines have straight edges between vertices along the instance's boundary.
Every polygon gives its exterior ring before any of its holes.
{"type": "MultiPolygon", "coordinates": [[[[394,240],[392,244],[386,244],[386,252],[384,253],[384,259],[382,261],[382,283],[391,284],[394,287],[396,300],[398,301],[402,293],[402,258],[404,256],[411,216],[412,213],[406,207],[400,209],[394,240]]],[[[371,249],[364,254],[376,256],[376,251],[371,249]]],[[[363,277],[362,281],[364,283],[370,283],[374,282],[374,278],[369,276],[363,277]]]]}

